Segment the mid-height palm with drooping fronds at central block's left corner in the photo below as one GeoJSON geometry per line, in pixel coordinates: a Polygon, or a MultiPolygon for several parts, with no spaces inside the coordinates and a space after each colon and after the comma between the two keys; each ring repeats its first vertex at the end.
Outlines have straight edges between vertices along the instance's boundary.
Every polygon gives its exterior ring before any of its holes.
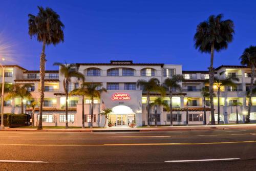
{"type": "Polygon", "coordinates": [[[69,95],[69,82],[71,77],[76,77],[78,79],[82,79],[84,80],[84,76],[82,73],[79,73],[77,70],[74,70],[74,68],[77,68],[77,65],[75,63],[71,63],[70,65],[67,65],[67,63],[63,64],[63,63],[59,63],[59,62],[55,62],[53,63],[54,66],[59,66],[59,73],[61,75],[64,76],[63,79],[63,87],[64,87],[64,91],[66,94],[66,129],[69,128],[69,124],[68,124],[68,95],[69,95]]]}

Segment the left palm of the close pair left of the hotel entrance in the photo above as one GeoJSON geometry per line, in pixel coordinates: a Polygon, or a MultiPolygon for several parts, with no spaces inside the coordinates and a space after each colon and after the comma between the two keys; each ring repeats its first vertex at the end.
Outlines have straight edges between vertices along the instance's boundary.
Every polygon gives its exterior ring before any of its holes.
{"type": "Polygon", "coordinates": [[[87,95],[87,89],[84,80],[78,89],[72,90],[69,95],[77,95],[82,97],[82,128],[84,128],[84,96],[87,95]]]}

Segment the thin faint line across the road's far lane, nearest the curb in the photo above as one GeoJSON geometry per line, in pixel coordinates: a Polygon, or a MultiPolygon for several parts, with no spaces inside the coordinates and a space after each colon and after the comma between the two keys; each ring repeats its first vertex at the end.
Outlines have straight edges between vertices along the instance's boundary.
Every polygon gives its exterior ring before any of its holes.
{"type": "Polygon", "coordinates": [[[205,137],[205,136],[234,136],[234,135],[256,135],[255,133],[246,133],[246,134],[216,134],[216,135],[168,135],[168,136],[0,136],[2,138],[8,137],[22,137],[22,138],[160,138],[160,137],[205,137]]]}

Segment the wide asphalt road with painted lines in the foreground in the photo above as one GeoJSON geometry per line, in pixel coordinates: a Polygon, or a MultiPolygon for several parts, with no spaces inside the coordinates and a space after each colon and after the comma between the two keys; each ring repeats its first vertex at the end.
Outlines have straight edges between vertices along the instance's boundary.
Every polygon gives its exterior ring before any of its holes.
{"type": "Polygon", "coordinates": [[[2,170],[256,170],[256,130],[3,131],[2,170]]]}

